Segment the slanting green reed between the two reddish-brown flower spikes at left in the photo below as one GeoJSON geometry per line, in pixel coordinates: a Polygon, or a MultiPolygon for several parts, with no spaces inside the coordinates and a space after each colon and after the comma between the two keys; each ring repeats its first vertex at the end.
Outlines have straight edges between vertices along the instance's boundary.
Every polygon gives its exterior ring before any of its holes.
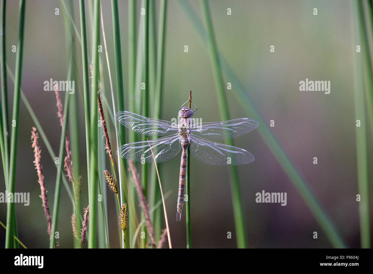
{"type": "Polygon", "coordinates": [[[63,127],[60,137],[60,149],[58,153],[59,164],[57,167],[57,177],[56,177],[56,188],[54,189],[54,201],[53,201],[53,214],[52,214],[52,233],[49,242],[49,248],[54,248],[56,244],[56,231],[58,224],[58,215],[60,208],[60,198],[61,198],[61,179],[64,176],[62,167],[63,167],[63,151],[65,150],[65,136],[66,128],[69,119],[69,92],[66,92],[65,95],[65,106],[63,109],[63,127]]]}

